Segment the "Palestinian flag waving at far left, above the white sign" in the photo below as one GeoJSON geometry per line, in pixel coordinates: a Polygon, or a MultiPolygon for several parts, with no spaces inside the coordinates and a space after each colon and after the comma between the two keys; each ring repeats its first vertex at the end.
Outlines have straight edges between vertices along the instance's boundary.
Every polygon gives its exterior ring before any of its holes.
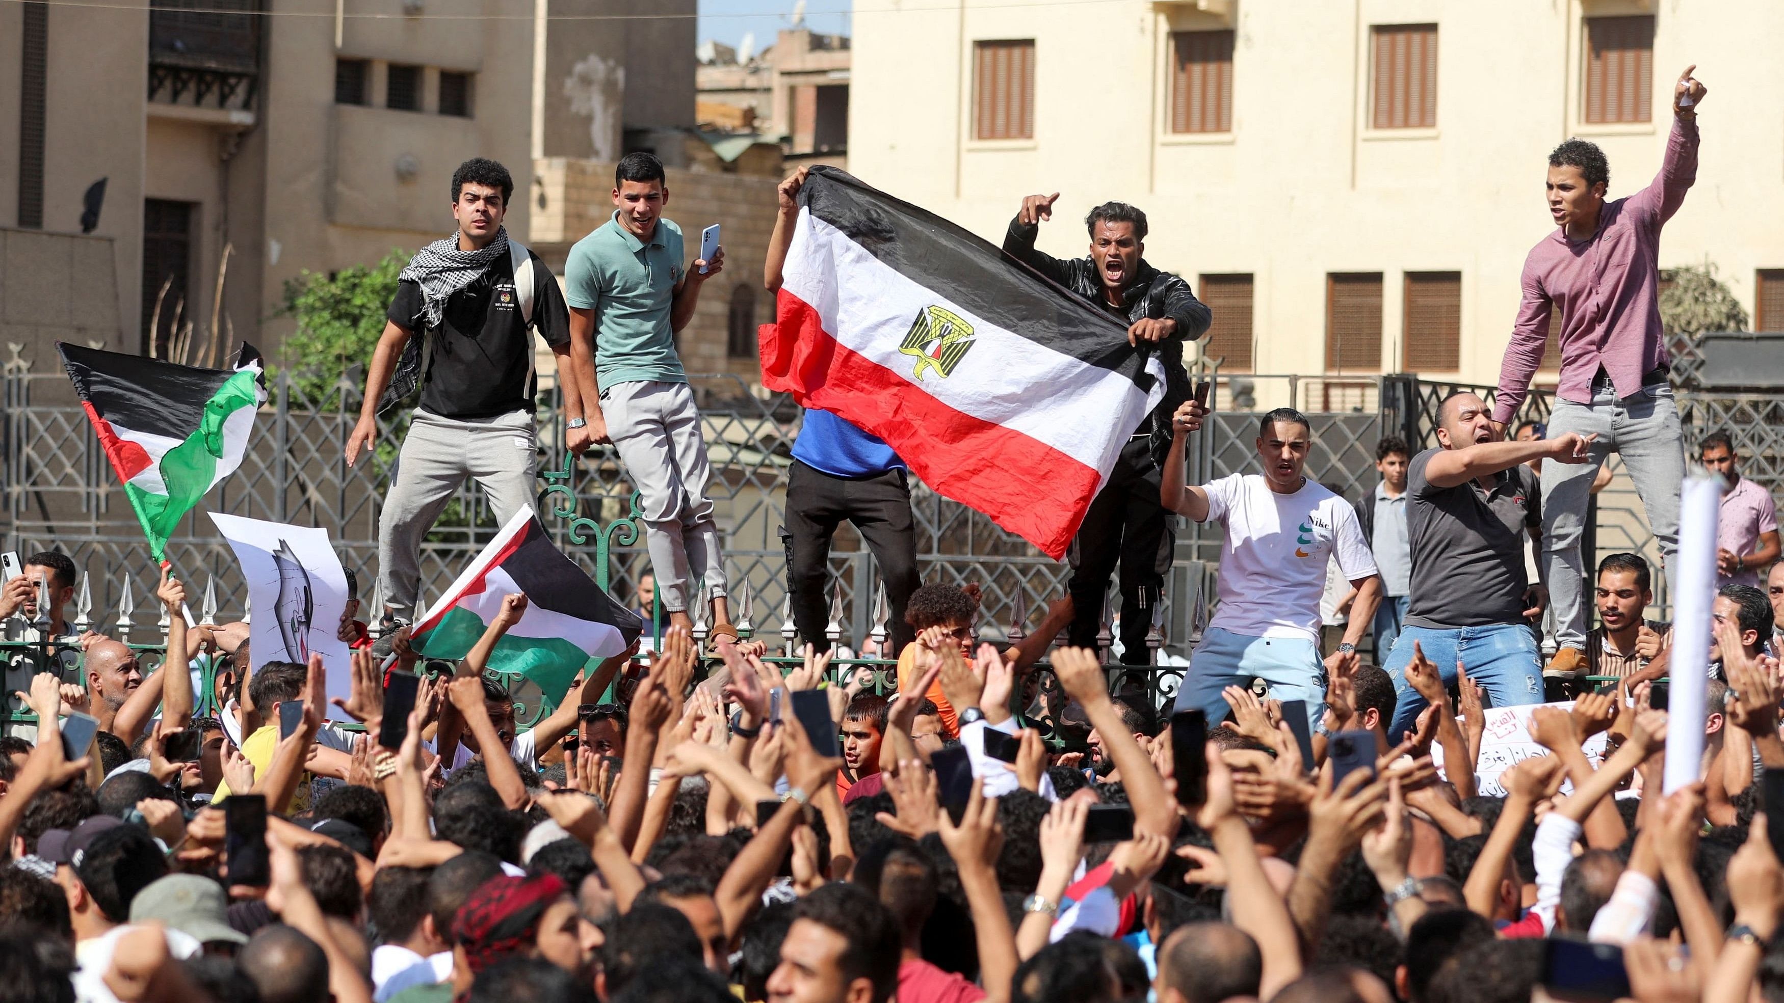
{"type": "Polygon", "coordinates": [[[55,342],[80,406],[157,561],[168,536],[212,486],[241,467],[253,413],[266,403],[260,353],[243,342],[234,369],[55,342]]]}

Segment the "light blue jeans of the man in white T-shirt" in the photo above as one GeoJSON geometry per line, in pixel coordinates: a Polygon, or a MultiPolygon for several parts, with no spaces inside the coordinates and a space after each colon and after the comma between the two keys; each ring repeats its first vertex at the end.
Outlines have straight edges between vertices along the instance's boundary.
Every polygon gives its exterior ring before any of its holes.
{"type": "Polygon", "coordinates": [[[1311,638],[1252,638],[1210,627],[1190,652],[1172,713],[1201,711],[1213,727],[1233,711],[1220,691],[1245,686],[1252,677],[1270,684],[1272,700],[1306,700],[1308,727],[1318,730],[1326,716],[1326,663],[1311,638]]]}

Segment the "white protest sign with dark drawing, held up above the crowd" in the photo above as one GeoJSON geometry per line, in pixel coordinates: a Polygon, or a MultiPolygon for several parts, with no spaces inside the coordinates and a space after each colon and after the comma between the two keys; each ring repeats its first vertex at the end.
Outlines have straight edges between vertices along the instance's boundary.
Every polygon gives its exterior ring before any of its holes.
{"type": "MultiPolygon", "coordinates": [[[[239,515],[209,513],[211,522],[228,540],[241,577],[248,583],[253,620],[248,650],[253,668],[269,661],[307,663],[323,656],[328,670],[328,695],[350,698],[353,693],[351,652],[341,640],[346,613],[346,572],[328,543],[328,531],[287,526],[239,515]]],[[[328,716],[350,720],[337,707],[328,716]]]]}

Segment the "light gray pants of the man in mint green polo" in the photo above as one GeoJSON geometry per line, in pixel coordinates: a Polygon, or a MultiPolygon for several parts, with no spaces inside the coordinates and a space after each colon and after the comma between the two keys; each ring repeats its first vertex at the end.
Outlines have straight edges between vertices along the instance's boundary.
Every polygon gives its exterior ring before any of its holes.
{"type": "Polygon", "coordinates": [[[699,433],[699,408],[687,383],[633,379],[601,390],[607,435],[642,495],[644,543],[657,595],[669,613],[687,611],[690,591],[724,595],[724,556],[712,520],[712,467],[699,433]]]}

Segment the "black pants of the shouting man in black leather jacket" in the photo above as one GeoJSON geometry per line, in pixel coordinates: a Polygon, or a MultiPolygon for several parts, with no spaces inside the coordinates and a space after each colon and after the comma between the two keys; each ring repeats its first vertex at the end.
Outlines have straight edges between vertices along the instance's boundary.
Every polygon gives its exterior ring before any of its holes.
{"type": "Polygon", "coordinates": [[[1072,581],[1067,588],[1076,615],[1070,643],[1081,648],[1097,645],[1103,597],[1110,574],[1120,563],[1122,665],[1145,665],[1151,657],[1145,647],[1145,634],[1152,629],[1147,600],[1165,588],[1176,545],[1170,513],[1158,501],[1161,474],[1145,436],[1129,438],[1072,540],[1072,581]]]}

